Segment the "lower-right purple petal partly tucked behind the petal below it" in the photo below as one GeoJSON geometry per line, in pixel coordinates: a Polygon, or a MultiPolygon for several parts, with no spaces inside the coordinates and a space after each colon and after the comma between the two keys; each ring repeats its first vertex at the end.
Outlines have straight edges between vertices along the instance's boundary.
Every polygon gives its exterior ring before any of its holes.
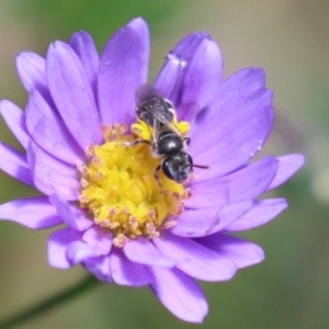
{"type": "Polygon", "coordinates": [[[256,243],[220,232],[197,241],[231,260],[238,269],[260,263],[265,258],[262,248],[256,243]]]}

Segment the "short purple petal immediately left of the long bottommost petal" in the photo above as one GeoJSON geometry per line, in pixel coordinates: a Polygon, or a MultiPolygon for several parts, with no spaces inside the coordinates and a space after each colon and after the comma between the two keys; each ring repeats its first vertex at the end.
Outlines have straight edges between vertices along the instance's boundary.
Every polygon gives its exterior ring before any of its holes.
{"type": "Polygon", "coordinates": [[[112,279],[121,285],[143,286],[151,282],[146,266],[129,261],[121,250],[111,252],[112,279]]]}

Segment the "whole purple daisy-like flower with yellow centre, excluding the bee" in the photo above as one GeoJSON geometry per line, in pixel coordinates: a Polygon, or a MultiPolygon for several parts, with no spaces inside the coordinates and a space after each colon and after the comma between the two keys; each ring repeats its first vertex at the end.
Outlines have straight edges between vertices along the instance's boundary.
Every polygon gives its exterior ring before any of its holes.
{"type": "Polygon", "coordinates": [[[100,57],[86,32],[52,44],[45,59],[18,56],[26,109],[4,100],[0,110],[25,152],[0,144],[0,168],[43,196],[1,205],[0,218],[33,229],[65,224],[49,237],[50,265],[80,263],[107,283],[149,285],[177,317],[200,322],[207,303],[195,279],[230,280],[263,260],[259,246],[230,232],[287,207],[284,198],[259,197],[293,175],[304,157],[249,162],[274,120],[264,72],[248,68],[222,81],[218,46],[192,33],[168,54],[154,86],[173,103],[196,168],[184,184],[162,170],[156,179],[161,158],[145,143],[134,145],[138,136],[151,141],[135,101],[148,60],[143,19],[114,34],[100,57]]]}

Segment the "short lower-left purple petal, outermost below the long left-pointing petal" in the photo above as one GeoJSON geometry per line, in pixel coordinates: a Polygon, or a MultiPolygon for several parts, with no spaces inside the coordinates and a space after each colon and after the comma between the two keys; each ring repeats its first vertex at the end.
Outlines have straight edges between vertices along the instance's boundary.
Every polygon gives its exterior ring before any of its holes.
{"type": "Polygon", "coordinates": [[[50,266],[69,269],[72,264],[67,258],[67,249],[71,242],[80,241],[82,234],[71,228],[54,231],[48,240],[48,262],[50,266]]]}

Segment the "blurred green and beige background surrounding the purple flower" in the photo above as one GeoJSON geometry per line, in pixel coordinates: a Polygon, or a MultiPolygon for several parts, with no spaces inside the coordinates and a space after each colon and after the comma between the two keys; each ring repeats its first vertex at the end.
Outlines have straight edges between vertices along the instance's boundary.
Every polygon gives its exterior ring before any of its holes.
{"type": "MultiPolygon", "coordinates": [[[[90,32],[101,50],[135,16],[151,31],[150,79],[186,33],[207,31],[225,57],[226,77],[263,67],[275,91],[276,122],[262,154],[304,152],[307,166],[275,195],[290,208],[245,232],[266,260],[227,283],[202,284],[209,314],[201,328],[329,328],[329,2],[327,0],[1,0],[0,99],[22,109],[26,94],[15,72],[22,50],[44,55],[55,39],[90,32]]],[[[0,139],[18,146],[0,122],[0,139]]],[[[0,203],[34,193],[0,172],[0,203]]],[[[77,266],[48,266],[49,230],[0,223],[0,318],[78,282],[77,266]]],[[[102,285],[19,328],[190,328],[145,288],[102,285]]]]}

